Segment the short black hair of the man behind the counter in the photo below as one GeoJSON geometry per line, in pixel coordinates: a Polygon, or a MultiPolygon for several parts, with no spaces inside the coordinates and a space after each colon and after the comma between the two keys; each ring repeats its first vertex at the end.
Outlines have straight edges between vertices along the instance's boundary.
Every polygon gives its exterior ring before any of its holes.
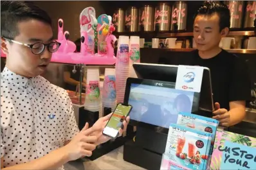
{"type": "Polygon", "coordinates": [[[219,31],[226,27],[230,28],[230,10],[226,4],[219,3],[218,1],[205,1],[201,4],[199,10],[197,10],[194,20],[197,15],[213,15],[214,13],[219,15],[219,31]]]}

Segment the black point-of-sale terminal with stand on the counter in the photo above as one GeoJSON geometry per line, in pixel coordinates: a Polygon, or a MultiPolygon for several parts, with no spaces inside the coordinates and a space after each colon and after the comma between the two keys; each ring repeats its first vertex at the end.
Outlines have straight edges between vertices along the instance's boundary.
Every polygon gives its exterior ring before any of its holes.
{"type": "Polygon", "coordinates": [[[128,78],[124,103],[133,105],[130,124],[136,136],[123,146],[123,159],[145,169],[160,169],[170,123],[178,112],[212,117],[210,70],[203,69],[201,92],[175,89],[178,65],[133,64],[138,78],[128,78]]]}

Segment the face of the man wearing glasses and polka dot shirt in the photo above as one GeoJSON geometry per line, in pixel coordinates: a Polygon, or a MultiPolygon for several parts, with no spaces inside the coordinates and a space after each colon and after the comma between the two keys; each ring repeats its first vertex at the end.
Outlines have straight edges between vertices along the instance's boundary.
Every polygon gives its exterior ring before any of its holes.
{"type": "MultiPolygon", "coordinates": [[[[48,44],[53,40],[53,31],[49,24],[35,19],[17,23],[19,35],[14,40],[23,44],[35,44],[42,42],[48,44]]],[[[34,77],[42,74],[50,63],[51,53],[45,47],[39,55],[34,55],[30,47],[6,41],[7,60],[6,66],[12,67],[21,76],[34,77]]]]}

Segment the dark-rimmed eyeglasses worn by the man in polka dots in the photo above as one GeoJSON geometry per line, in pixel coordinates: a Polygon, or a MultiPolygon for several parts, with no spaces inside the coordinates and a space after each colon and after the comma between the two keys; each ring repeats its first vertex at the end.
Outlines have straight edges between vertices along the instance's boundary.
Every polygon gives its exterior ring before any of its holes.
{"type": "Polygon", "coordinates": [[[59,49],[60,44],[61,44],[60,42],[57,42],[57,41],[53,41],[48,44],[44,44],[42,42],[37,42],[35,44],[24,44],[22,42],[18,42],[18,41],[11,40],[8,38],[4,38],[4,39],[10,40],[11,42],[14,42],[16,44],[21,44],[23,46],[30,47],[30,49],[34,55],[40,55],[44,51],[45,47],[48,48],[48,51],[50,53],[55,53],[59,49]]]}

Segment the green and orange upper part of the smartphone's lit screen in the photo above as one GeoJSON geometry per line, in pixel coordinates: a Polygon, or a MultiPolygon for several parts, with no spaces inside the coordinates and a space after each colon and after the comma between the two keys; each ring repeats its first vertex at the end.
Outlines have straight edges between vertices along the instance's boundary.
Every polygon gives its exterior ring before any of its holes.
{"type": "Polygon", "coordinates": [[[122,104],[118,104],[116,106],[116,110],[114,110],[113,115],[111,116],[111,119],[107,123],[107,129],[111,128],[114,130],[119,130],[119,128],[123,124],[123,120],[131,110],[131,106],[124,106],[122,104]]]}

